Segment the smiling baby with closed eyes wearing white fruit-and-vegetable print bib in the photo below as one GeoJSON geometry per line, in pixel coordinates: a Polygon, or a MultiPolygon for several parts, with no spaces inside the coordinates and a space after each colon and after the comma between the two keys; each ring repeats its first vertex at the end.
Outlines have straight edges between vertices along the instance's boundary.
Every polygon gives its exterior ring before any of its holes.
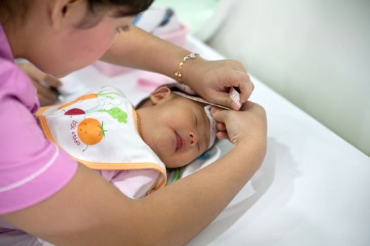
{"type": "Polygon", "coordinates": [[[37,118],[45,136],[75,160],[142,198],[166,185],[166,167],[183,167],[214,145],[210,105],[187,90],[160,86],[133,108],[120,91],[104,87],[42,108],[37,118]]]}

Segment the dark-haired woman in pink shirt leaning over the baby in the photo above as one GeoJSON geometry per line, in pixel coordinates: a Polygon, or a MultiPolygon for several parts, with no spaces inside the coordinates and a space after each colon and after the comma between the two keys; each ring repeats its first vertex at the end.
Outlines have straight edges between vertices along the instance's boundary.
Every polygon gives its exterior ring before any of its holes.
{"type": "Polygon", "coordinates": [[[218,138],[229,138],[233,149],[140,200],[126,198],[42,135],[33,117],[37,92],[13,59],[30,60],[55,77],[101,58],[175,78],[180,60],[191,52],[129,25],[151,3],[0,2],[0,221],[56,245],[183,245],[257,171],[266,151],[266,115],[247,101],[253,84],[233,60],[197,56],[180,67],[182,82],[207,101],[235,109],[211,110],[220,122],[218,138]],[[241,108],[228,98],[231,86],[241,92],[241,108]]]}

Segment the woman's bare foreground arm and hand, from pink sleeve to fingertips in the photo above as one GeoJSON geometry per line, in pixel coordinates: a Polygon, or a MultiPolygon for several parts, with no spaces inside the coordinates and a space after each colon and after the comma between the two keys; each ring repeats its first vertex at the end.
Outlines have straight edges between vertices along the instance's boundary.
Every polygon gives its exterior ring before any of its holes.
{"type": "Polygon", "coordinates": [[[266,151],[266,117],[259,105],[214,117],[225,122],[234,148],[185,179],[130,200],[80,165],[51,198],[1,219],[56,245],[183,245],[228,205],[266,151]]]}

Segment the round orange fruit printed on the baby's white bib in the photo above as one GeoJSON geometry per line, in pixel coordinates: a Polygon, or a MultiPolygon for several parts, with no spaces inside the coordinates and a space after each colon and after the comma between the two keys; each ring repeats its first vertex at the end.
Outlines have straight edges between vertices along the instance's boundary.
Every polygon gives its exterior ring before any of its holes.
{"type": "Polygon", "coordinates": [[[87,145],[97,144],[105,136],[103,122],[94,118],[86,118],[78,124],[78,137],[83,143],[87,145]]]}

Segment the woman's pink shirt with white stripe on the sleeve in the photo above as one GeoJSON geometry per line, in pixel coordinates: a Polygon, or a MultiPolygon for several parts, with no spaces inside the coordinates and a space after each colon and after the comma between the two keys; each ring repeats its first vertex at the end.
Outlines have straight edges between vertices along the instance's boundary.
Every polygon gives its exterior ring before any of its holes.
{"type": "Polygon", "coordinates": [[[14,63],[0,25],[0,214],[49,198],[77,169],[42,134],[33,115],[38,108],[37,91],[14,63]]]}

